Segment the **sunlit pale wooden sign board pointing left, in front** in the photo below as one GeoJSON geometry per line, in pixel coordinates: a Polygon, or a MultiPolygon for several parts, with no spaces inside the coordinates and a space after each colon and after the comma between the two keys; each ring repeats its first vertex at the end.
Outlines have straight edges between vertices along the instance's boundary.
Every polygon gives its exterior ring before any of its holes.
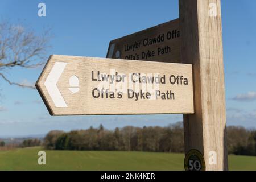
{"type": "Polygon", "coordinates": [[[52,55],[36,82],[52,115],[193,113],[191,64],[52,55]]]}

